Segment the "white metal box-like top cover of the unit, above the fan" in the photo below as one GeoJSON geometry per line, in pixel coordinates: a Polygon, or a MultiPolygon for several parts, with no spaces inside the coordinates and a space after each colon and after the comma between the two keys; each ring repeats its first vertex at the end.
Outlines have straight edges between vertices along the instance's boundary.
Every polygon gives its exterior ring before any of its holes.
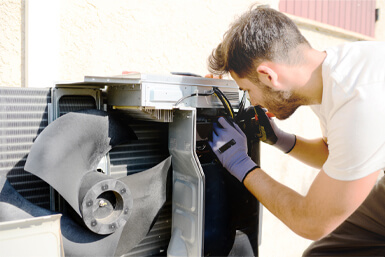
{"type": "Polygon", "coordinates": [[[222,103],[212,94],[213,87],[218,87],[234,108],[239,104],[239,89],[233,80],[131,73],[112,77],[86,76],[84,82],[106,85],[108,104],[115,109],[221,108],[222,103]]]}

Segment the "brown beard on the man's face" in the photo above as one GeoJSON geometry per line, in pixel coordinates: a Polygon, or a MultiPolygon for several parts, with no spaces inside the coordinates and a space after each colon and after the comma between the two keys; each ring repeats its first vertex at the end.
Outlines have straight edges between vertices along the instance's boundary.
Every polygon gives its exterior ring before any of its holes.
{"type": "Polygon", "coordinates": [[[263,91],[263,102],[266,105],[264,107],[279,120],[289,118],[306,102],[303,97],[292,91],[275,91],[269,87],[264,87],[263,91]]]}

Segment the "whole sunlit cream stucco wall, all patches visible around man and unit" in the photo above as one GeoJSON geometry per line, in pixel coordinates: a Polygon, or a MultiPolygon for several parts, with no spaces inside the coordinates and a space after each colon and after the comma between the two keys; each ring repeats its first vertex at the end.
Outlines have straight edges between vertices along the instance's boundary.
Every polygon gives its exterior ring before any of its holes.
{"type": "MultiPolygon", "coordinates": [[[[57,57],[50,63],[43,63],[41,69],[47,67],[44,65],[55,65],[58,70],[56,80],[82,80],[84,75],[114,75],[123,70],[188,71],[204,75],[207,73],[207,56],[220,42],[234,17],[254,1],[57,2],[57,57]]],[[[279,0],[260,2],[277,8],[279,0]]],[[[376,35],[385,40],[385,1],[377,1],[377,5],[381,8],[381,16],[376,24],[376,35]]],[[[47,10],[42,10],[42,15],[44,11],[47,10]]],[[[26,84],[24,14],[24,0],[0,1],[0,86],[26,84]]],[[[330,30],[301,19],[296,22],[318,50],[360,39],[343,32],[334,33],[333,28],[330,30]]],[[[321,134],[318,120],[306,107],[301,107],[289,120],[278,123],[283,129],[304,137],[321,134]]],[[[273,178],[302,194],[306,193],[317,173],[270,146],[262,146],[261,157],[262,167],[273,178]]],[[[264,210],[260,256],[300,256],[309,243],[264,210]]]]}

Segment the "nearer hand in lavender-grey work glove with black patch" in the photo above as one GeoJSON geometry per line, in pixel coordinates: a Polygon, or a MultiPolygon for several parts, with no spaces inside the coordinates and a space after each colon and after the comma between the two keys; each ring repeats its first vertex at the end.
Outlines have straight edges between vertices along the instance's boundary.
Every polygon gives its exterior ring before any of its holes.
{"type": "Polygon", "coordinates": [[[209,144],[223,167],[243,183],[246,175],[259,166],[247,155],[247,138],[238,125],[223,117],[218,123],[213,125],[209,144]]]}

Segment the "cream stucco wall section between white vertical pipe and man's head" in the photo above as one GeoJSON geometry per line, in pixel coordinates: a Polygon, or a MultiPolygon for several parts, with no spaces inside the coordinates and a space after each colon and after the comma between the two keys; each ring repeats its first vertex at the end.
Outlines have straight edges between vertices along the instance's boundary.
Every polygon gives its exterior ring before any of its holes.
{"type": "Polygon", "coordinates": [[[206,59],[250,1],[62,1],[60,78],[122,70],[206,73],[206,59]]]}

